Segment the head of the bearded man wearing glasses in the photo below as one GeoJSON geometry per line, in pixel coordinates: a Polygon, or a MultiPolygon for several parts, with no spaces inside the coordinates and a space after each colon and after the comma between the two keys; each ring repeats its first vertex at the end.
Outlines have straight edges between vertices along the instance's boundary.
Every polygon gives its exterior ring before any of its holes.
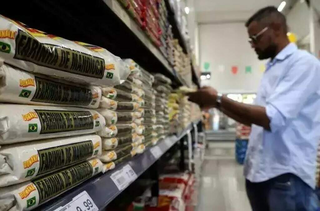
{"type": "Polygon", "coordinates": [[[275,7],[265,7],[246,22],[249,42],[260,60],[274,58],[289,43],[285,16],[275,7]]]}

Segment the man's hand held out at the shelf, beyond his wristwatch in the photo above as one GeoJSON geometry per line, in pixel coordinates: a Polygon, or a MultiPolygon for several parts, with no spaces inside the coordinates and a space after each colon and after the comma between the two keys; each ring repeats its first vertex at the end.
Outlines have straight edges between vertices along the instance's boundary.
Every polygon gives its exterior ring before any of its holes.
{"type": "Polygon", "coordinates": [[[210,109],[216,106],[217,90],[212,87],[202,87],[196,92],[188,93],[189,100],[197,103],[201,109],[210,109]]]}

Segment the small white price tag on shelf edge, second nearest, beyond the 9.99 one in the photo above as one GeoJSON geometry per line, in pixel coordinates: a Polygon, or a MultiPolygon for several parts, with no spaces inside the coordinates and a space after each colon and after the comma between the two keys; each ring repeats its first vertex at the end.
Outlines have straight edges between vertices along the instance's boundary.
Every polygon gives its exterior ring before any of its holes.
{"type": "Polygon", "coordinates": [[[110,178],[119,190],[123,190],[131,182],[137,179],[137,174],[134,172],[131,166],[127,164],[122,169],[114,172],[110,178]]]}

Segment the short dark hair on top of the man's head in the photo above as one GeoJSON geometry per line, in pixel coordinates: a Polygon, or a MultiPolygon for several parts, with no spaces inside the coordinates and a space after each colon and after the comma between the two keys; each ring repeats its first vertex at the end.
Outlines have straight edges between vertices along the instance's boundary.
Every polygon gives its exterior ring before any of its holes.
{"type": "Polygon", "coordinates": [[[249,20],[246,22],[246,27],[248,27],[253,21],[265,22],[266,25],[276,21],[283,25],[285,32],[288,31],[286,17],[274,6],[260,9],[249,18],[249,20]]]}

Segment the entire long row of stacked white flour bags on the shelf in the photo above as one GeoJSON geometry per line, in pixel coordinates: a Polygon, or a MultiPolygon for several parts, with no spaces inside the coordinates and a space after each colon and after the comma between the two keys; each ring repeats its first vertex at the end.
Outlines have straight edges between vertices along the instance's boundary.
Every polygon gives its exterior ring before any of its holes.
{"type": "Polygon", "coordinates": [[[201,116],[132,59],[4,16],[0,31],[1,211],[50,203],[201,116]]]}

